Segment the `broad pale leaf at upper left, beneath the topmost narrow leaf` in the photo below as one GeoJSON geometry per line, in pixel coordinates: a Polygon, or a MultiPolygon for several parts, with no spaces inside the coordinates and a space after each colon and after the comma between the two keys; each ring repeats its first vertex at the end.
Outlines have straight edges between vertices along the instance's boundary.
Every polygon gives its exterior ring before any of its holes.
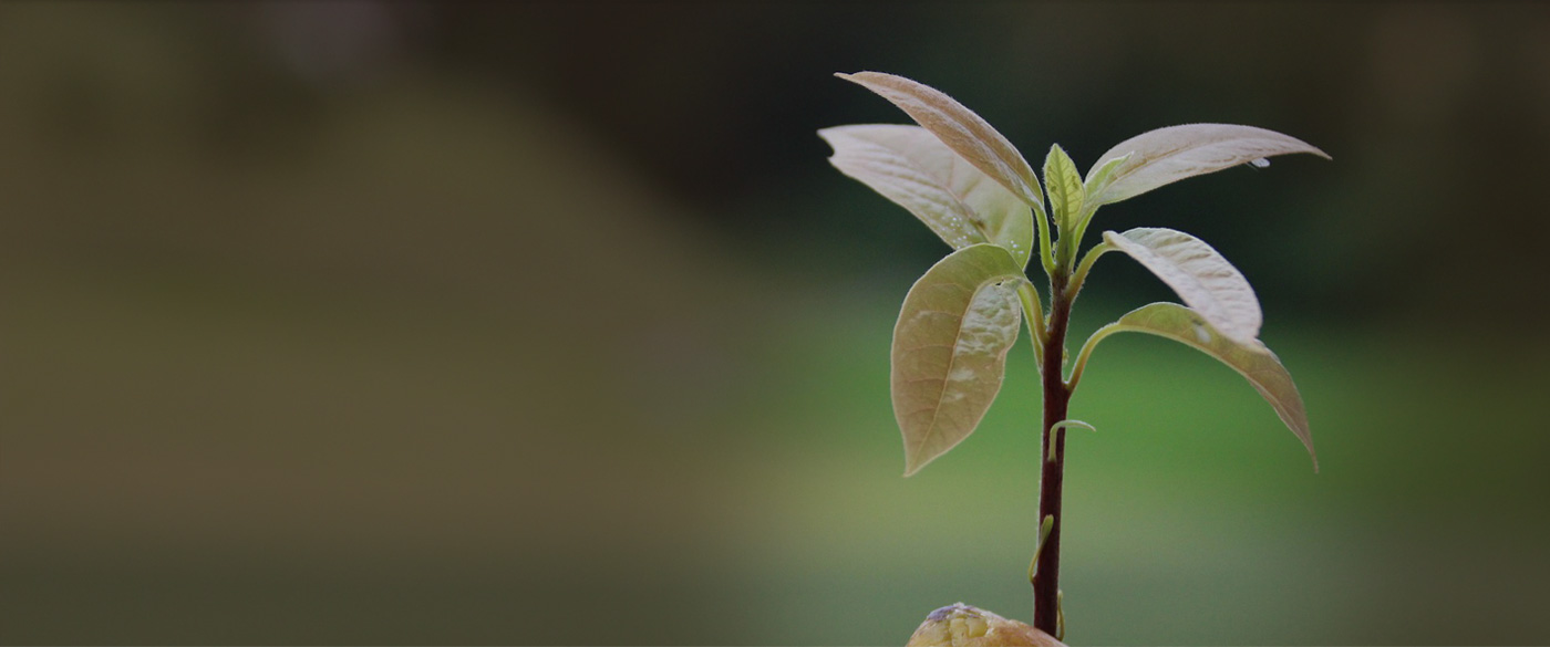
{"type": "Polygon", "coordinates": [[[995,243],[1026,266],[1034,217],[1006,187],[919,125],[840,125],[818,130],[829,163],[914,214],[953,249],[995,243]]]}

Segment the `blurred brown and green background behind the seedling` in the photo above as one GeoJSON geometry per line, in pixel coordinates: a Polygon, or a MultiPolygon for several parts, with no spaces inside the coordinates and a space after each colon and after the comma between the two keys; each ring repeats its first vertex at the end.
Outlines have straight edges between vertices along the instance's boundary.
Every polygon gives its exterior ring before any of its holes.
{"type": "MultiPolygon", "coordinates": [[[[1254,124],[1099,214],[1256,285],[1322,464],[1121,336],[1073,415],[1073,644],[1550,642],[1550,6],[0,5],[0,641],[902,644],[1029,618],[1035,371],[908,480],[947,249],[814,130],[1031,159],[1254,124]]],[[[1077,339],[1172,299],[1125,258],[1077,339]]]]}

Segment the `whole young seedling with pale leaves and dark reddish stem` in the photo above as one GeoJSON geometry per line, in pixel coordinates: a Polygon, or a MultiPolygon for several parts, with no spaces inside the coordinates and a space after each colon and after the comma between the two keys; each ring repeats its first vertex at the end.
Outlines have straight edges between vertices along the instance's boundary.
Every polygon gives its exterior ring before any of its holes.
{"type": "Polygon", "coordinates": [[[1080,254],[1082,237],[1104,204],[1128,200],[1194,175],[1269,156],[1322,150],[1265,128],[1189,124],[1125,139],[1085,176],[1060,145],[1045,156],[1043,181],[984,119],[947,94],[893,74],[837,74],[888,99],[919,125],[842,125],[818,135],[849,175],[908,209],[953,252],[904,297],[893,331],[893,412],[904,432],[908,477],[969,436],[1001,390],[1006,353],[1026,322],[1043,382],[1038,543],[1029,565],[1034,627],[1060,638],[1060,484],[1071,393],[1093,348],[1114,333],[1150,333],[1197,348],[1232,367],[1276,409],[1313,457],[1302,398],[1257,337],[1260,306],[1248,280],[1194,235],[1161,228],[1105,231],[1080,254]],[[1093,333],[1068,362],[1066,325],[1088,271],[1122,252],[1162,279],[1184,305],[1152,303],[1093,333]],[[1031,260],[1048,276],[1043,297],[1025,274],[1031,260]],[[1070,373],[1065,371],[1070,364],[1070,373]]]}

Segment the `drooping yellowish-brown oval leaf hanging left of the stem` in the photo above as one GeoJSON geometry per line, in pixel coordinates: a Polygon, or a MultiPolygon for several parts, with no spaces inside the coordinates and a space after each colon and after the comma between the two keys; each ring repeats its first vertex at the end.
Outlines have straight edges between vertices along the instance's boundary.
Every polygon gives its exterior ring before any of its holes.
{"type": "Polygon", "coordinates": [[[1028,279],[1006,249],[949,254],[910,288],[893,330],[893,415],[911,475],[973,433],[1006,371],[1028,279]]]}

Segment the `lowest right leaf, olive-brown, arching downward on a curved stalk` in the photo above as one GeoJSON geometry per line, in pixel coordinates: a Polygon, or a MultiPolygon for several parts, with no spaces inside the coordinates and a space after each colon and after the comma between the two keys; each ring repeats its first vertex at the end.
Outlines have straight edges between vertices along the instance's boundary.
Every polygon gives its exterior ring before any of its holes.
{"type": "Polygon", "coordinates": [[[1276,415],[1286,424],[1286,429],[1291,429],[1291,433],[1297,435],[1304,447],[1308,447],[1308,457],[1313,458],[1313,471],[1318,472],[1319,457],[1313,452],[1313,432],[1308,430],[1308,413],[1302,407],[1302,396],[1297,393],[1297,385],[1291,381],[1291,373],[1286,373],[1286,367],[1280,364],[1276,353],[1271,353],[1265,344],[1257,339],[1237,342],[1212,328],[1200,313],[1178,303],[1144,305],[1119,317],[1118,322],[1093,333],[1087,344],[1082,345],[1082,353],[1077,354],[1071,375],[1073,382],[1080,379],[1088,356],[1093,354],[1097,342],[1114,333],[1162,336],[1217,358],[1237,370],[1276,409],[1276,415]]]}

